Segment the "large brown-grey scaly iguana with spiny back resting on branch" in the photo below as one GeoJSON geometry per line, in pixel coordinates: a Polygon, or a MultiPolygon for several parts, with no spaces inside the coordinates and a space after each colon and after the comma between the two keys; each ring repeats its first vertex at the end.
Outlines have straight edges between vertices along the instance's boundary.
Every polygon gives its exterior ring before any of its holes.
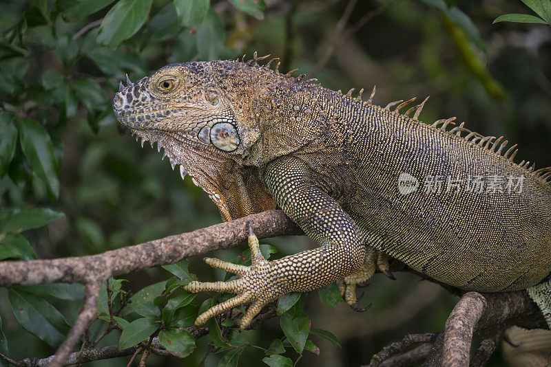
{"type": "Polygon", "coordinates": [[[528,288],[551,320],[551,168],[514,163],[516,145],[454,118],[420,122],[426,100],[400,113],[413,99],[382,108],[375,89],[363,101],[258,60],[170,64],[114,97],[118,121],[164,148],[224,221],[278,207],[320,244],[267,261],[251,232],[251,267],[207,258],[238,278],[186,289],[237,296],[196,324],[250,303],[245,328],[285,293],[342,278],[355,305],[376,268],[391,276],[389,258],[459,289],[528,288]]]}

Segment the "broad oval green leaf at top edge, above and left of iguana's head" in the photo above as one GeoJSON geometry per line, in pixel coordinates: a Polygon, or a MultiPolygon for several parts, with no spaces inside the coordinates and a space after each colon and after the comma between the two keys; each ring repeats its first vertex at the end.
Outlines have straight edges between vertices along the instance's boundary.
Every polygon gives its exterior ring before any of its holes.
{"type": "Polygon", "coordinates": [[[142,27],[153,0],[120,0],[103,18],[98,43],[117,47],[142,27]]]}

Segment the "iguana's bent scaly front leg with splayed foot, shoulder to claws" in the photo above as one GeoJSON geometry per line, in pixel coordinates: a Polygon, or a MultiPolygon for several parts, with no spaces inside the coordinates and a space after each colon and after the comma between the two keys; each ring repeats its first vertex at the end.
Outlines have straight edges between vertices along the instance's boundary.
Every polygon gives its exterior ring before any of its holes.
{"type": "MultiPolygon", "coordinates": [[[[311,170],[304,162],[280,157],[269,164],[264,181],[280,208],[321,246],[270,262],[257,257],[257,263],[251,267],[207,260],[241,278],[229,282],[190,282],[185,287],[191,292],[238,293],[199,315],[198,325],[226,309],[252,302],[240,322],[240,328],[245,329],[264,304],[285,293],[324,287],[353,274],[364,264],[366,249],[354,221],[335,199],[315,186],[311,170]]],[[[259,256],[256,245],[251,245],[251,250],[259,256]]]]}

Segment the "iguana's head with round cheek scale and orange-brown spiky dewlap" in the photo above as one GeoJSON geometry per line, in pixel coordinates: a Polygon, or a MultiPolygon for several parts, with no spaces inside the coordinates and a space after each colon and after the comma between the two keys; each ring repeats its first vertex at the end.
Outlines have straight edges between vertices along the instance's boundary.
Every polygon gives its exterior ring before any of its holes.
{"type": "Polygon", "coordinates": [[[114,97],[116,117],[142,145],[164,148],[172,168],[180,165],[182,177],[189,174],[209,194],[222,219],[273,209],[258,167],[244,164],[258,128],[236,112],[242,106],[214,74],[212,63],[192,62],[127,80],[114,97]]]}

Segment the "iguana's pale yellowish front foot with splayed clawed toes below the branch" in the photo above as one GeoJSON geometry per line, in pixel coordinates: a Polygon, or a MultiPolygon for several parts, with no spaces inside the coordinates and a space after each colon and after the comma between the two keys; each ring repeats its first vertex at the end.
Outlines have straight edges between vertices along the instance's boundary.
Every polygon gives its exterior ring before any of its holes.
{"type": "Polygon", "coordinates": [[[253,318],[260,312],[264,305],[278,299],[285,292],[278,290],[275,283],[275,277],[271,271],[271,262],[266,260],[258,245],[258,238],[253,233],[249,224],[249,247],[251,248],[251,266],[236,265],[227,263],[217,258],[205,258],[205,263],[211,267],[216,267],[240,276],[236,280],[229,282],[189,282],[184,287],[186,291],[198,293],[200,291],[217,291],[236,293],[237,296],[229,300],[216,304],[204,313],[201,313],[195,320],[196,326],[205,324],[209,318],[218,315],[228,309],[232,309],[240,304],[251,302],[247,313],[240,321],[240,329],[245,329],[253,318]]]}

